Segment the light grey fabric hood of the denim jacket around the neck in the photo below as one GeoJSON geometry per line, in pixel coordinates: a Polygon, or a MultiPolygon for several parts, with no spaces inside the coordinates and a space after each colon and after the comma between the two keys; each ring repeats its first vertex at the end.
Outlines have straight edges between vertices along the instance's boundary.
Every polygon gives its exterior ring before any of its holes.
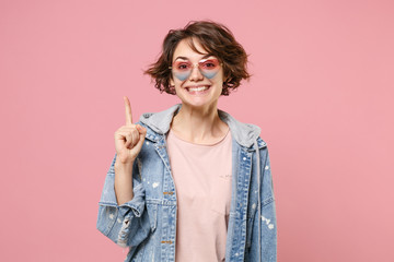
{"type": "MultiPolygon", "coordinates": [[[[170,130],[171,121],[174,115],[179,110],[182,104],[172,106],[171,108],[161,111],[161,112],[147,112],[140,117],[140,121],[152,129],[155,133],[165,134],[170,130]]],[[[260,128],[251,123],[242,123],[231,117],[228,112],[218,109],[219,117],[224,121],[230,130],[231,134],[234,136],[235,141],[250,150],[253,148],[255,141],[258,139],[260,133],[260,128]]],[[[153,141],[158,141],[161,138],[158,138],[154,132],[148,132],[147,138],[153,141]]],[[[258,140],[258,147],[266,146],[263,140],[258,140]]]]}

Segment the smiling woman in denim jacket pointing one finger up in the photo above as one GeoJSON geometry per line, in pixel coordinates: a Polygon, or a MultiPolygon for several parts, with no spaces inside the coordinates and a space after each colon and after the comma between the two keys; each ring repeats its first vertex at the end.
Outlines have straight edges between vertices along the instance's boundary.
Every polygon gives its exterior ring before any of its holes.
{"type": "Polygon", "coordinates": [[[246,66],[225,26],[193,22],[169,32],[146,71],[181,104],[134,123],[124,98],[97,228],[129,247],[126,261],[276,261],[267,145],[258,127],[218,109],[250,78],[246,66]]]}

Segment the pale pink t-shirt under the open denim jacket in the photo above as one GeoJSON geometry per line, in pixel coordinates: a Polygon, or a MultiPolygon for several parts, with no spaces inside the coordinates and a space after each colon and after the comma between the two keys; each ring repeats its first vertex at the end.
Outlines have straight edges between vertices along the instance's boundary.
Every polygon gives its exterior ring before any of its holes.
{"type": "Polygon", "coordinates": [[[231,201],[231,132],[215,144],[200,145],[170,130],[167,151],[177,196],[175,261],[224,261],[231,201]]]}

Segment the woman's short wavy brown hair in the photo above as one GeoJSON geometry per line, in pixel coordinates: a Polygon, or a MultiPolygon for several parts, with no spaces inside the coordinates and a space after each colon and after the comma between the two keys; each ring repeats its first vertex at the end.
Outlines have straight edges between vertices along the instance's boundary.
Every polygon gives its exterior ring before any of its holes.
{"type": "Polygon", "coordinates": [[[217,57],[223,63],[222,95],[240,86],[241,80],[250,80],[247,72],[247,55],[235,40],[228,27],[212,21],[190,21],[183,29],[171,29],[165,36],[162,52],[157,62],[149,66],[143,74],[149,74],[155,81],[154,86],[161,92],[175,95],[174,86],[170,85],[171,69],[175,48],[183,39],[187,39],[190,48],[200,53],[193,43],[197,39],[204,49],[217,57]]]}

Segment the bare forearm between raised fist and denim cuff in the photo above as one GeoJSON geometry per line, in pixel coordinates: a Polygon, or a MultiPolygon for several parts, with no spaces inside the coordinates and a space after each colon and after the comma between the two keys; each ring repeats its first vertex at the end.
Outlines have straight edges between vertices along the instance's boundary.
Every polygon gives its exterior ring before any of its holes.
{"type": "Polygon", "coordinates": [[[115,194],[118,205],[129,202],[134,198],[132,164],[115,162],[115,194]]]}

